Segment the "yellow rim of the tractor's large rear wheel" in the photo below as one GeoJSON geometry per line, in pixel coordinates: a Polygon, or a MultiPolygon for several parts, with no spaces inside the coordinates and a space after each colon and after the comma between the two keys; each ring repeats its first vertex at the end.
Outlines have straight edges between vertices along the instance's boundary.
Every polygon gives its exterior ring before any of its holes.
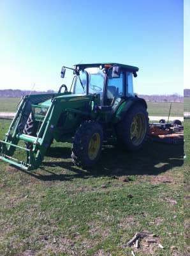
{"type": "Polygon", "coordinates": [[[136,114],[133,116],[130,129],[130,137],[133,145],[138,146],[142,143],[147,132],[147,121],[143,114],[136,114]]]}

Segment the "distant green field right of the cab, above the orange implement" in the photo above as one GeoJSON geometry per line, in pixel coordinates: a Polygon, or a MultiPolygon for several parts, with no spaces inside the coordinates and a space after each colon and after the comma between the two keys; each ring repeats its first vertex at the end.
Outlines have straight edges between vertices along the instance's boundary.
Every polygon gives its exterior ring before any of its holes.
{"type": "MultiPolygon", "coordinates": [[[[147,102],[150,116],[168,116],[170,102],[147,102]]],[[[184,116],[184,103],[172,102],[170,116],[184,116]]]]}

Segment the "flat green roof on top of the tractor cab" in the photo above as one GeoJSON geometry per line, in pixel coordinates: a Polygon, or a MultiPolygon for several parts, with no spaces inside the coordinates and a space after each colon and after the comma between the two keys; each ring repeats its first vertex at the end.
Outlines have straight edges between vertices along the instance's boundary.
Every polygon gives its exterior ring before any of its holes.
{"type": "Polygon", "coordinates": [[[92,68],[92,67],[106,67],[106,65],[117,65],[120,66],[121,68],[123,68],[126,71],[129,72],[137,72],[138,71],[138,67],[133,67],[133,66],[129,66],[129,65],[124,65],[124,64],[120,64],[120,63],[110,63],[110,62],[105,62],[105,63],[89,63],[89,64],[77,64],[74,67],[80,67],[80,69],[84,69],[84,68],[92,68]]]}

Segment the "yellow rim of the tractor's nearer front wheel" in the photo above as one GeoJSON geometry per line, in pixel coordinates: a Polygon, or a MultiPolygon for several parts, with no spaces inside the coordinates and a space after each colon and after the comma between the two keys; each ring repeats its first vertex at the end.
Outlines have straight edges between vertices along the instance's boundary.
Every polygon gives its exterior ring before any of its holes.
{"type": "Polygon", "coordinates": [[[94,160],[98,156],[100,148],[100,136],[98,133],[94,133],[89,141],[88,155],[91,160],[94,160]]]}

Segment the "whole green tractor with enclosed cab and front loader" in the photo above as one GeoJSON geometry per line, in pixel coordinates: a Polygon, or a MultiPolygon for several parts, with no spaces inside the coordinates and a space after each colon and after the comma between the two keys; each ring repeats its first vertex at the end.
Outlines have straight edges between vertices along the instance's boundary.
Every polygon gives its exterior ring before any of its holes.
{"type": "MultiPolygon", "coordinates": [[[[62,78],[67,68],[62,67],[62,78]]],[[[0,141],[1,160],[23,170],[35,170],[54,139],[72,142],[72,161],[83,168],[98,161],[103,141],[110,138],[127,150],[142,147],[149,119],[145,100],[133,93],[138,68],[93,63],[68,69],[73,70],[69,92],[62,84],[57,93],[22,98],[0,141]],[[26,152],[26,159],[16,158],[23,156],[16,154],[20,150],[26,152]]]]}

